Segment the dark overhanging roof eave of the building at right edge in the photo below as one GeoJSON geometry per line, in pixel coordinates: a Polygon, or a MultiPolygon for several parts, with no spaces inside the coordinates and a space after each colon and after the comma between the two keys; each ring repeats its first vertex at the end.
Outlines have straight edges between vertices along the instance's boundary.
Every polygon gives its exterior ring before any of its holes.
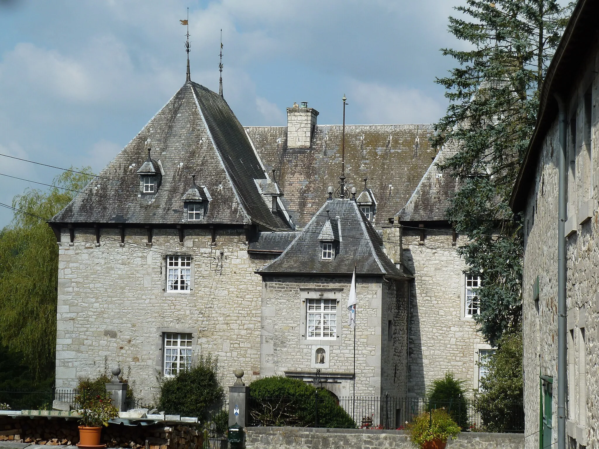
{"type": "Polygon", "coordinates": [[[599,2],[597,0],[579,0],[570,16],[558,48],[547,68],[540,93],[539,114],[533,137],[528,145],[524,160],[520,166],[516,185],[512,190],[510,207],[519,212],[524,209],[528,192],[535,181],[535,173],[541,145],[547,130],[558,114],[555,94],[561,95],[566,102],[574,82],[580,75],[580,66],[588,62],[589,51],[596,48],[599,31],[599,2]]]}

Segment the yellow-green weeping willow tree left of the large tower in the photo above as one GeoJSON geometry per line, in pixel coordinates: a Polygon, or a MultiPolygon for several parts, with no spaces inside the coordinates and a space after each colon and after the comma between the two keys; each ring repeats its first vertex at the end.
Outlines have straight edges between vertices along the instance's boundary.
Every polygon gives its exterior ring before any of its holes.
{"type": "MultiPolygon", "coordinates": [[[[90,167],[78,171],[91,174],[90,167]]],[[[67,171],[53,184],[70,190],[25,190],[13,199],[13,221],[0,230],[0,344],[22,354],[36,382],[53,378],[55,368],[58,247],[46,221],[91,178],[67,171]]]]}

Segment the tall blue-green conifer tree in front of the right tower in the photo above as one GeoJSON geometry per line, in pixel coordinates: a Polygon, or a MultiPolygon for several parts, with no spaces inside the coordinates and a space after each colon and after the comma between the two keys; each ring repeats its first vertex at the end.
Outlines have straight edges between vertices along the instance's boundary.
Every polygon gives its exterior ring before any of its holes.
{"type": "Polygon", "coordinates": [[[457,148],[440,164],[459,181],[448,218],[469,239],[459,248],[469,271],[482,274],[476,320],[491,344],[521,324],[522,226],[509,198],[570,8],[556,0],[467,0],[455,8],[462,17],[449,18],[449,31],[470,49],[442,50],[459,66],[437,78],[450,105],[432,143],[457,148]]]}

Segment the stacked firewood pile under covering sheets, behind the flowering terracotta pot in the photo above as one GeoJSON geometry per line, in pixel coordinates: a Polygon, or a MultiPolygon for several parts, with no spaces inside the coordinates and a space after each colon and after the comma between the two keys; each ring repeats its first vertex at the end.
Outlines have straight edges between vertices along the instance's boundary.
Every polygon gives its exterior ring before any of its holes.
{"type": "MultiPolygon", "coordinates": [[[[47,417],[0,417],[2,441],[37,445],[75,445],[79,442],[77,420],[47,417]]],[[[190,424],[150,424],[149,426],[119,426],[109,424],[102,429],[102,444],[131,449],[195,449],[201,448],[202,430],[190,424]]]]}

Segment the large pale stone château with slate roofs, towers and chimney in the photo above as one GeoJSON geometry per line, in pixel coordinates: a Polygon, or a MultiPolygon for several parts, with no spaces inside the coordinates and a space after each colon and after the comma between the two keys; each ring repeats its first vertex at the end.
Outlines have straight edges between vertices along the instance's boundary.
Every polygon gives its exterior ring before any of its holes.
{"type": "Polygon", "coordinates": [[[423,396],[453,371],[474,388],[485,345],[445,210],[455,184],[429,125],[341,126],[294,105],[240,125],[187,78],[50,221],[59,244],[56,386],[120,365],[135,395],[200,354],[224,384],[286,375],[356,395],[423,396]],[[318,371],[317,371],[318,370],[318,371]]]}

